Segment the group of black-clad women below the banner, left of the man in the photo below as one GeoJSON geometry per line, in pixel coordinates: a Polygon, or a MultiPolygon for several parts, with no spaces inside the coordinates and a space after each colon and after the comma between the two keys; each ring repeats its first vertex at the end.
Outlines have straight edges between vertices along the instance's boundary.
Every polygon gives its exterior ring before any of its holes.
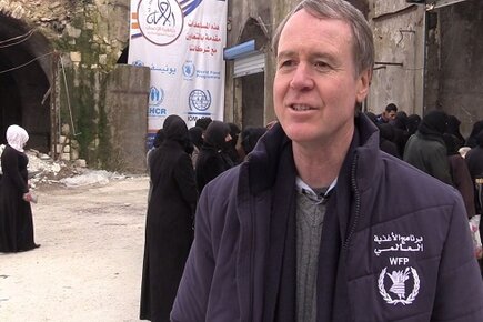
{"type": "Polygon", "coordinates": [[[241,163],[266,128],[198,119],[188,129],[179,115],[164,120],[148,151],[150,193],[140,319],[169,321],[194,235],[194,212],[203,188],[241,163]]]}

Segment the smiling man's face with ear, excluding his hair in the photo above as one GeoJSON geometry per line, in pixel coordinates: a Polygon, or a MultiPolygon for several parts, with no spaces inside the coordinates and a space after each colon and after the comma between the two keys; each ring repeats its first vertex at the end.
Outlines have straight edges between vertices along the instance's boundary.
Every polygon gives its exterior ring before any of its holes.
{"type": "Polygon", "coordinates": [[[370,72],[355,76],[348,23],[304,9],[286,22],[279,41],[273,100],[295,143],[352,139],[355,102],[368,94],[370,72]]]}

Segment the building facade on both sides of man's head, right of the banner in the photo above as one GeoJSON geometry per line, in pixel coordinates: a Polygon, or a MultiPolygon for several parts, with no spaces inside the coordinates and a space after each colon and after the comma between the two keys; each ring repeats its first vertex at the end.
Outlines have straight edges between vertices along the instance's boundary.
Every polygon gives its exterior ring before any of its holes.
{"type": "MultiPolygon", "coordinates": [[[[483,41],[477,33],[483,30],[483,2],[349,1],[365,14],[374,33],[373,81],[363,109],[380,113],[391,102],[407,114],[442,109],[460,119],[467,135],[483,119],[483,41]]],[[[255,40],[251,52],[227,60],[225,118],[240,124],[259,125],[275,118],[270,39],[299,1],[270,2],[231,1],[229,8],[228,47],[255,40]]]]}

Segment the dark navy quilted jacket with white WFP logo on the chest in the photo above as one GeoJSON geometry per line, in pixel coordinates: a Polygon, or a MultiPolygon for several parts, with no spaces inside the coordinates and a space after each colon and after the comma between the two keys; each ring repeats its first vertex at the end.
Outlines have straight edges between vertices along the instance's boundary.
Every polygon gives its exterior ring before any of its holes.
{"type": "MultiPolygon", "coordinates": [[[[365,117],[355,122],[338,199],[328,207],[328,214],[336,213],[340,244],[329,276],[335,286],[328,291],[318,282],[318,321],[483,321],[483,283],[461,195],[381,152],[365,117]],[[329,319],[321,312],[328,309],[329,319]]],[[[279,233],[273,222],[294,217],[293,207],[278,207],[290,193],[275,193],[283,185],[294,190],[295,173],[281,172],[291,169],[281,165],[290,147],[276,125],[248,161],[205,187],[172,321],[294,321],[266,319],[273,316],[266,285],[276,274],[268,270],[279,233]]],[[[321,254],[329,254],[324,234],[321,254]]],[[[278,301],[280,313],[286,301],[280,294],[278,301]]]]}

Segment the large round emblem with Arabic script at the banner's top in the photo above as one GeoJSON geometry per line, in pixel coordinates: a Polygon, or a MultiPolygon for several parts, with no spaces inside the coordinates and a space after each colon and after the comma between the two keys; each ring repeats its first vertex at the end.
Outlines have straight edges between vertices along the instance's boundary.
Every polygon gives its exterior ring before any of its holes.
{"type": "Polygon", "coordinates": [[[183,12],[175,0],[141,0],[138,22],[144,38],[158,46],[170,44],[183,31],[183,12]]]}

